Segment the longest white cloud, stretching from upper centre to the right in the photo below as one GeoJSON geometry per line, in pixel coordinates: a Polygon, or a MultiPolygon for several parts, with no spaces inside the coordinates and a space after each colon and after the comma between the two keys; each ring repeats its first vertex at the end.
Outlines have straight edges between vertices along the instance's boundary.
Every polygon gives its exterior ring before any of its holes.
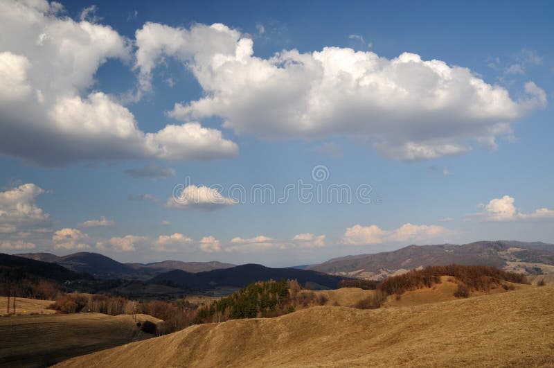
{"type": "Polygon", "coordinates": [[[261,139],[348,136],[388,157],[430,159],[511,134],[511,122],[546,105],[542,89],[526,87],[524,98],[512,100],[470,69],[413,53],[387,59],[325,47],[258,58],[251,39],[222,24],[147,23],[136,44],[144,89],[165,57],[184,62],[204,89],[204,97],[176,104],[169,116],[220,116],[224,127],[261,139]]]}

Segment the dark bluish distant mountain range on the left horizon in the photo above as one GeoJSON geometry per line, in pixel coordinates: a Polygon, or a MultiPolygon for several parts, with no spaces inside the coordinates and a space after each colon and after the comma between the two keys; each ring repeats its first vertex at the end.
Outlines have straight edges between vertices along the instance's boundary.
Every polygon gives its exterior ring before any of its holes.
{"type": "Polygon", "coordinates": [[[98,253],[79,252],[67,256],[56,256],[51,253],[26,253],[16,256],[35,261],[56,263],[64,268],[79,273],[91,274],[96,279],[139,279],[148,280],[156,274],[168,270],[184,270],[186,272],[202,272],[230,268],[230,263],[163,261],[156,263],[120,263],[98,253]]]}

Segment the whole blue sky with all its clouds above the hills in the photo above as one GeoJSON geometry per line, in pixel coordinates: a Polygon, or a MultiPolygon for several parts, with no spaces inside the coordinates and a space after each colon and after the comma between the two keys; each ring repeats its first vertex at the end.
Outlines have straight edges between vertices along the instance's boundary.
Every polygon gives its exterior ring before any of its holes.
{"type": "Polygon", "coordinates": [[[551,1],[0,0],[0,252],[554,243],[551,1]]]}

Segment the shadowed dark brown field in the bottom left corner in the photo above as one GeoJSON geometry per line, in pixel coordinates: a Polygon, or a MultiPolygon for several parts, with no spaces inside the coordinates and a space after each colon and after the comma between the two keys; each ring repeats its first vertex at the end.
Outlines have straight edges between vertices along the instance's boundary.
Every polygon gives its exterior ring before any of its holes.
{"type": "MultiPolygon", "coordinates": [[[[149,315],[137,318],[160,322],[149,315]]],[[[140,331],[131,315],[114,317],[100,313],[1,317],[0,336],[3,367],[45,367],[73,356],[152,337],[140,331]]]]}

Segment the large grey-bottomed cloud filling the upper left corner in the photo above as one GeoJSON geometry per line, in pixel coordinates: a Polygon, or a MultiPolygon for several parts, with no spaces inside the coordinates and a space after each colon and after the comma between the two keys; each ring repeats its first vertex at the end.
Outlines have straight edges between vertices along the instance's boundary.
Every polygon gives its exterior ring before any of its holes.
{"type": "Polygon", "coordinates": [[[143,132],[129,109],[90,91],[109,59],[132,58],[130,40],[96,24],[94,7],[80,21],[58,3],[1,1],[0,153],[42,165],[94,159],[215,159],[238,147],[199,123],[143,132]],[[33,145],[28,142],[32,141],[33,145]]]}

